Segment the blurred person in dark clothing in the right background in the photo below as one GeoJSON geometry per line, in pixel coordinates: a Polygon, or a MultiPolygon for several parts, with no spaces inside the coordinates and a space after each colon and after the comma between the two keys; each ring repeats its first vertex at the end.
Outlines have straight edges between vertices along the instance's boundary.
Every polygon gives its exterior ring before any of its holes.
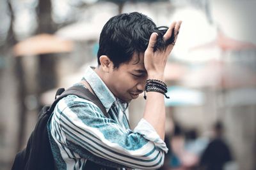
{"type": "Polygon", "coordinates": [[[223,170],[225,164],[232,161],[232,155],[223,139],[223,124],[216,122],[213,130],[213,138],[202,153],[200,167],[204,170],[223,170]]]}

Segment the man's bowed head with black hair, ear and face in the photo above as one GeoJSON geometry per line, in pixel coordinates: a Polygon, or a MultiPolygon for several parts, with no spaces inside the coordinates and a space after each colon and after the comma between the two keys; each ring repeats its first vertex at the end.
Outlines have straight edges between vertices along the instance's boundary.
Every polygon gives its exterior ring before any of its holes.
{"type": "Polygon", "coordinates": [[[167,27],[156,24],[141,13],[124,13],[108,20],[100,33],[98,64],[102,80],[122,101],[129,102],[143,92],[147,71],[144,52],[150,35],[157,32],[156,50],[164,50],[167,27]]]}

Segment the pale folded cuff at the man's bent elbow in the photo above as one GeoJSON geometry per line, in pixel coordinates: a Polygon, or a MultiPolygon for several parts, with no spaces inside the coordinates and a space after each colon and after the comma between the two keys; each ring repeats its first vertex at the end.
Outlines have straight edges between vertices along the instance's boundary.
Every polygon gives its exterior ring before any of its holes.
{"type": "Polygon", "coordinates": [[[141,118],[138,125],[135,127],[134,132],[141,134],[145,139],[152,141],[157,148],[160,148],[165,153],[168,152],[168,148],[164,141],[159,137],[154,127],[147,122],[144,118],[141,118]]]}

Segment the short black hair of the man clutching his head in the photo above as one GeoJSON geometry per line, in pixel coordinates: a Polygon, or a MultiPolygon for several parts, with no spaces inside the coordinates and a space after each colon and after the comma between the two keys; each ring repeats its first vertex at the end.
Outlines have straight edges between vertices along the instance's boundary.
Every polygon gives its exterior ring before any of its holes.
{"type": "Polygon", "coordinates": [[[173,43],[174,39],[172,36],[168,41],[163,41],[167,29],[165,26],[156,27],[150,18],[138,12],[122,13],[110,18],[100,33],[98,64],[101,55],[107,55],[115,68],[129,62],[134,53],[140,55],[145,52],[153,32],[158,34],[154,51],[165,50],[166,45],[173,43]]]}

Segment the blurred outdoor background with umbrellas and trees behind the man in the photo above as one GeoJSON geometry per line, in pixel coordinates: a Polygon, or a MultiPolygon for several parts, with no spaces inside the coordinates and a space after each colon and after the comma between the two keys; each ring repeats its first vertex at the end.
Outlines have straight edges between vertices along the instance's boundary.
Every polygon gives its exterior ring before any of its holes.
{"type": "MultiPolygon", "coordinates": [[[[1,0],[0,169],[11,168],[56,89],[97,66],[106,21],[139,11],[158,26],[183,21],[165,70],[162,169],[255,170],[255,9],[253,0],[1,0]]],[[[132,129],[144,104],[140,96],[129,106],[132,129]]]]}

